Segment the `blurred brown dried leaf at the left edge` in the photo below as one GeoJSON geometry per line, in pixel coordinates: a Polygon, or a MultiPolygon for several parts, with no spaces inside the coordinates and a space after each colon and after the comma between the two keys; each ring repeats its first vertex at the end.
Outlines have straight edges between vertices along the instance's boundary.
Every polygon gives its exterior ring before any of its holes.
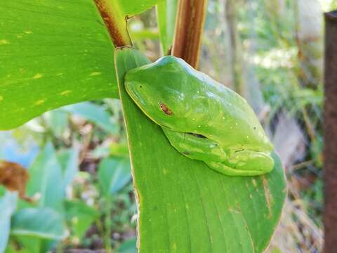
{"type": "Polygon", "coordinates": [[[14,162],[0,161],[0,184],[8,190],[18,191],[19,197],[27,202],[32,198],[26,196],[26,184],[29,179],[27,169],[14,162]]]}

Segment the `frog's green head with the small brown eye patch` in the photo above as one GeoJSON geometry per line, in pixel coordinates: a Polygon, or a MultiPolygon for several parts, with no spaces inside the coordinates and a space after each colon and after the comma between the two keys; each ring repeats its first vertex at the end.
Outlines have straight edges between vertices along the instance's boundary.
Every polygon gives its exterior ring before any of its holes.
{"type": "Polygon", "coordinates": [[[126,91],[138,107],[161,126],[184,131],[192,112],[192,84],[187,72],[195,71],[184,60],[165,56],[155,63],[126,73],[126,91]],[[188,84],[187,84],[188,82],[188,84]]]}

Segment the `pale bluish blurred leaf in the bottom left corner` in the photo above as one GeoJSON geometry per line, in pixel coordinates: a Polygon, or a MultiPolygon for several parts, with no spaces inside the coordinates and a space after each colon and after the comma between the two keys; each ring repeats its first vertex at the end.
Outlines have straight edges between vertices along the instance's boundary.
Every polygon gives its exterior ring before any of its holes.
{"type": "Polygon", "coordinates": [[[15,211],[18,200],[17,193],[6,191],[0,198],[0,252],[7,247],[9,231],[11,229],[11,215],[15,211]]]}

